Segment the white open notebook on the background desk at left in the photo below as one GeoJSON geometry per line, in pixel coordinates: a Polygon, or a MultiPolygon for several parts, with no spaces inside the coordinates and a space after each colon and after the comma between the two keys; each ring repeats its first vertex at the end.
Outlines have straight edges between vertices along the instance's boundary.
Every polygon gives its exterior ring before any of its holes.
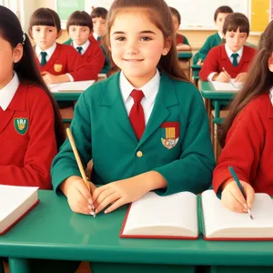
{"type": "Polygon", "coordinates": [[[81,93],[85,91],[89,86],[92,86],[95,81],[79,81],[79,82],[67,82],[61,84],[48,85],[51,92],[67,92],[67,93],[81,93]]]}

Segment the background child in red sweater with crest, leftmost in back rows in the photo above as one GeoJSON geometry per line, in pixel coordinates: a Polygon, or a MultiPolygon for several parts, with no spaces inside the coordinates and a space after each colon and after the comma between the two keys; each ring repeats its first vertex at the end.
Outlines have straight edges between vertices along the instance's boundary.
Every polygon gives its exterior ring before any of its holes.
{"type": "Polygon", "coordinates": [[[46,84],[96,79],[76,50],[60,45],[61,21],[55,11],[39,8],[31,16],[29,35],[35,40],[36,63],[46,84]]]}

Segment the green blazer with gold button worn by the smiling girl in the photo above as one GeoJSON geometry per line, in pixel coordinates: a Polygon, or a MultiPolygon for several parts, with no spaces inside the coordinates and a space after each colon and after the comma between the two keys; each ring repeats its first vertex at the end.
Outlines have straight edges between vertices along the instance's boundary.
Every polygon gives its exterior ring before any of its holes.
{"type": "MultiPolygon", "coordinates": [[[[160,194],[207,189],[215,161],[207,113],[196,86],[162,73],[154,108],[138,142],[119,89],[119,75],[90,86],[76,103],[70,127],[83,166],[94,160],[91,181],[104,185],[155,170],[167,180],[167,188],[158,191],[160,194]],[[163,144],[170,140],[166,128],[173,126],[177,144],[167,148],[163,144]]],[[[67,177],[80,177],[67,139],[53,161],[51,174],[57,193],[67,177]]]]}

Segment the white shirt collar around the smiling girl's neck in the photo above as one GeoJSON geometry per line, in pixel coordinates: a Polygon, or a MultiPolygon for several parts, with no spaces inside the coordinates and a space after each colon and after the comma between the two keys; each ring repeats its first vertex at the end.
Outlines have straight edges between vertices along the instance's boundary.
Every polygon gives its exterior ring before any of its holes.
{"type": "Polygon", "coordinates": [[[121,95],[123,98],[123,101],[126,103],[126,100],[130,96],[131,92],[136,89],[136,90],[141,90],[144,93],[145,98],[148,101],[149,105],[152,105],[156,99],[158,90],[159,90],[159,85],[160,85],[160,74],[159,71],[157,70],[156,75],[153,76],[146,85],[140,87],[140,88],[135,88],[130,84],[130,82],[126,79],[126,76],[123,74],[123,72],[120,72],[120,77],[119,77],[119,88],[121,91],[121,95]]]}

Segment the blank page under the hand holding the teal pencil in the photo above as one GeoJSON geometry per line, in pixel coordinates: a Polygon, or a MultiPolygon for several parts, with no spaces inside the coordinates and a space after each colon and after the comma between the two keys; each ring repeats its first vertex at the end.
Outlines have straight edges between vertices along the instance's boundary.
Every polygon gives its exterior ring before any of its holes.
{"type": "MultiPolygon", "coordinates": [[[[248,237],[247,229],[256,233],[254,228],[272,227],[273,235],[273,202],[267,194],[255,195],[255,201],[251,207],[253,220],[248,213],[238,213],[224,207],[213,190],[202,193],[202,208],[207,238],[217,230],[228,228],[232,228],[233,236],[238,238],[248,237]]],[[[261,234],[260,237],[263,235],[261,234]]]]}

